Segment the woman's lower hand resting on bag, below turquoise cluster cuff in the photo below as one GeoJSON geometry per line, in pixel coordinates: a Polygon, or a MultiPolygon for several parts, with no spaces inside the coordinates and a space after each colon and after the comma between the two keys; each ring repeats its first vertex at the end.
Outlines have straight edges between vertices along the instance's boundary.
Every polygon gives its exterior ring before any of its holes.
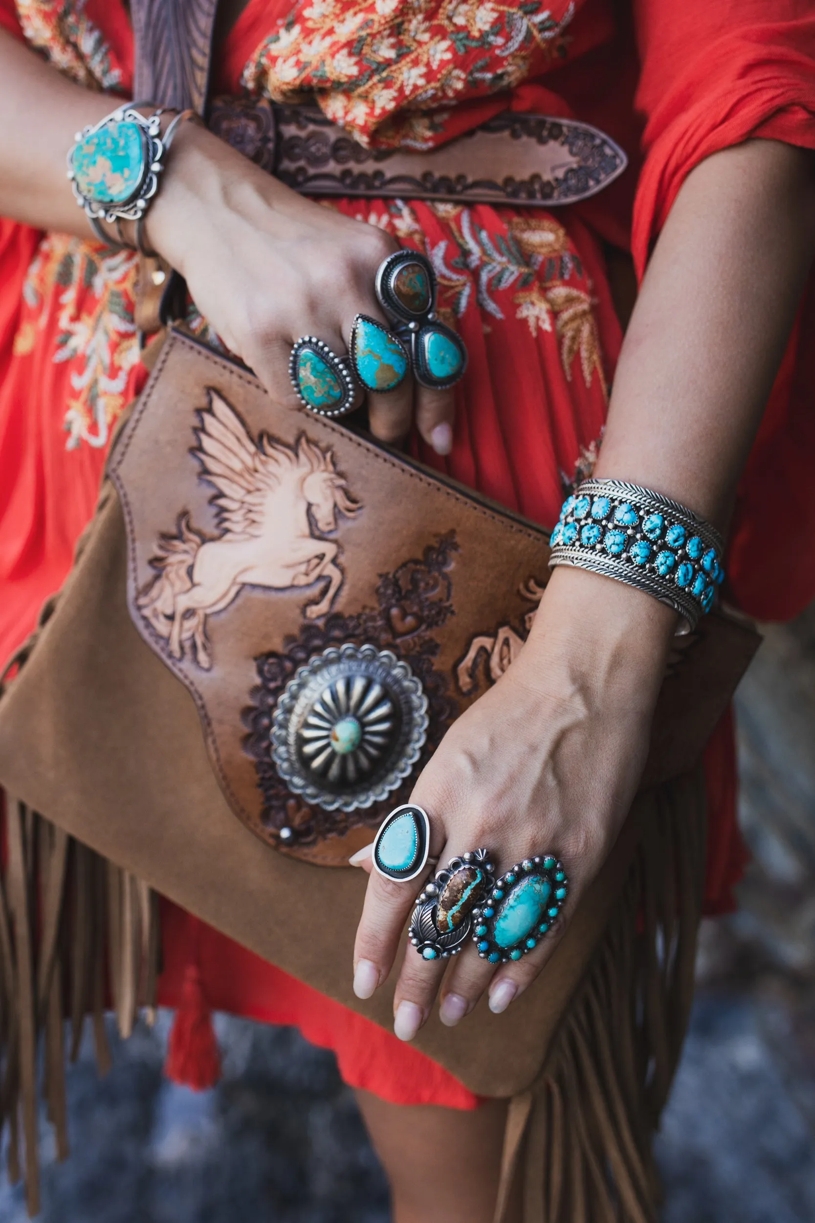
{"type": "MultiPolygon", "coordinates": [[[[568,899],[551,933],[494,969],[468,942],[450,961],[409,947],[395,1031],[412,1040],[442,992],[441,1019],[467,1015],[484,989],[502,1011],[546,964],[626,819],[676,625],[656,599],[582,570],[555,571],[521,656],[445,735],[412,795],[431,823],[439,865],[485,846],[496,873],[536,854],[560,857],[568,899]]],[[[370,852],[357,855],[370,870],[370,852]]],[[[370,873],[354,949],[354,991],[387,977],[420,881],[370,873]]]]}

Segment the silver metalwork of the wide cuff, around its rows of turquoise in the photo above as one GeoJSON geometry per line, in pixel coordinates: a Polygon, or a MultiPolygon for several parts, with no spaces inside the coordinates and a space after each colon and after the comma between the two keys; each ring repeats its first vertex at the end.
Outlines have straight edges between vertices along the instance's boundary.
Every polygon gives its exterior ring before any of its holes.
{"type": "Polygon", "coordinates": [[[662,497],[661,493],[654,493],[648,488],[640,488],[639,484],[629,484],[623,479],[587,479],[574,490],[574,497],[605,497],[612,500],[609,519],[595,520],[593,517],[588,517],[585,520],[580,520],[578,523],[578,531],[582,525],[595,521],[602,530],[613,528],[615,531],[622,531],[627,536],[626,550],[618,555],[609,555],[605,552],[602,538],[600,538],[596,544],[583,544],[580,543],[578,534],[578,538],[573,543],[557,543],[552,547],[551,556],[549,559],[550,569],[555,569],[557,565],[572,565],[576,569],[585,569],[593,574],[601,574],[605,577],[612,577],[618,582],[624,582],[626,586],[632,586],[634,589],[644,591],[646,594],[659,599],[660,603],[665,603],[682,616],[679,627],[676,632],[677,636],[685,636],[687,634],[693,632],[704,614],[700,599],[692,594],[689,589],[683,589],[678,586],[673,575],[663,577],[656,570],[652,559],[650,559],[645,565],[634,564],[628,549],[632,543],[645,541],[654,549],[655,554],[660,550],[660,544],[662,548],[670,548],[670,550],[676,554],[677,570],[685,559],[690,561],[694,570],[699,570],[699,563],[687,556],[684,545],[672,548],[666,544],[665,541],[654,541],[649,538],[643,532],[641,525],[627,527],[613,522],[613,511],[616,509],[613,500],[616,499],[619,503],[627,501],[632,506],[637,506],[637,509],[641,510],[644,514],[661,514],[666,519],[670,517],[671,523],[682,526],[687,536],[699,536],[705,545],[705,549],[710,549],[716,553],[721,566],[725,544],[716,528],[709,522],[705,522],[703,519],[696,517],[693,510],[689,510],[679,501],[674,501],[670,497],[662,497]]]}

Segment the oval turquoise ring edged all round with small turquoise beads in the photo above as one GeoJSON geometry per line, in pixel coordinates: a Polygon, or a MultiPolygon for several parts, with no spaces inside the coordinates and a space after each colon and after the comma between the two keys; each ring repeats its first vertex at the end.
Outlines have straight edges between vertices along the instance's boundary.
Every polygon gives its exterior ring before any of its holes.
{"type": "Polygon", "coordinates": [[[473,909],[473,942],[480,958],[506,964],[534,951],[557,920],[567,894],[563,863],[551,854],[516,863],[473,909]]]}

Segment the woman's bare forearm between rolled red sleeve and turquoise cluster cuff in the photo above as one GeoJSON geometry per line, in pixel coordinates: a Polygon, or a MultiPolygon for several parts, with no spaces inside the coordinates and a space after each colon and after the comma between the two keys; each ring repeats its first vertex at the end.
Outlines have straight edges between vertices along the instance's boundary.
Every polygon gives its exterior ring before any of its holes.
{"type": "Polygon", "coordinates": [[[598,476],[727,528],[815,248],[814,166],[751,141],[688,176],[626,335],[598,476]]]}

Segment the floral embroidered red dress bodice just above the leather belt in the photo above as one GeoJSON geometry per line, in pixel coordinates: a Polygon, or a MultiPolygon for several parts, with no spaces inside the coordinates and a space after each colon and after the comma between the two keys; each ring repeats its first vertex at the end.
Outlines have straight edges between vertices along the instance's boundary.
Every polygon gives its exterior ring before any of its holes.
{"type": "Polygon", "coordinates": [[[511,89],[565,56],[574,7],[563,0],[552,7],[541,0],[301,0],[261,43],[243,83],[275,102],[316,97],[363,143],[375,133],[378,146],[428,148],[448,119],[437,108],[511,89]]]}

